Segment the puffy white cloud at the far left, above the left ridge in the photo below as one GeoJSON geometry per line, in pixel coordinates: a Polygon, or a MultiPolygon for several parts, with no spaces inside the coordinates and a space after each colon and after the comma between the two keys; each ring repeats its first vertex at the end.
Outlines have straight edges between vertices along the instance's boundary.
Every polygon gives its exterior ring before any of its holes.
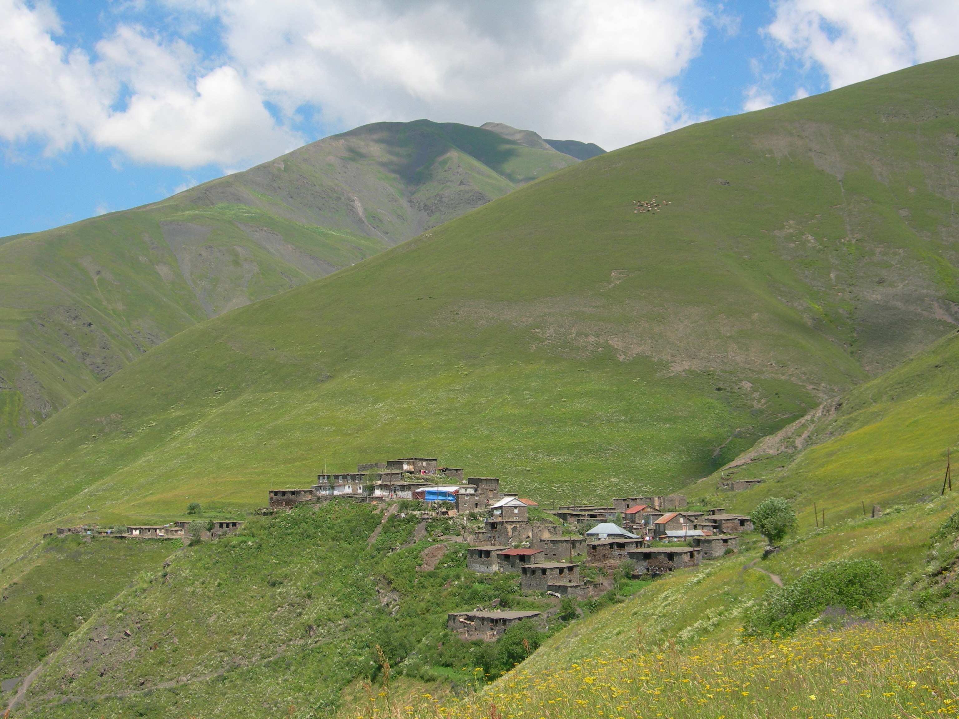
{"type": "Polygon", "coordinates": [[[181,168],[249,164],[299,144],[238,70],[198,73],[182,40],[121,26],[92,61],[58,45],[59,30],[48,6],[0,0],[0,137],[9,142],[38,140],[48,153],[90,143],[181,168]]]}

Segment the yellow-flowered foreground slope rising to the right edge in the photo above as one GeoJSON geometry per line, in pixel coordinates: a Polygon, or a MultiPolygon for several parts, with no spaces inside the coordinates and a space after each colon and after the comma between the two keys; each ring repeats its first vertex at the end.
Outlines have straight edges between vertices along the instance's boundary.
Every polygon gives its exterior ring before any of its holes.
{"type": "MultiPolygon", "coordinates": [[[[689,666],[695,665],[700,657],[718,661],[719,671],[711,671],[708,679],[714,684],[712,697],[719,684],[732,682],[742,690],[748,690],[742,696],[752,697],[750,702],[771,702],[764,715],[791,715],[789,705],[793,702],[776,704],[777,687],[773,685],[770,692],[767,691],[770,686],[763,686],[775,684],[775,681],[757,681],[756,669],[763,662],[743,661],[744,656],[753,655],[737,650],[741,629],[764,593],[774,589],[770,574],[788,584],[807,569],[821,567],[833,560],[876,560],[888,572],[891,595],[872,609],[873,618],[885,619],[895,626],[903,617],[929,613],[959,615],[959,584],[956,583],[956,568],[959,567],[959,550],[956,548],[959,534],[956,530],[959,527],[955,523],[959,495],[947,492],[940,496],[946,449],[956,449],[955,430],[959,427],[959,409],[955,402],[957,389],[959,336],[952,334],[900,367],[841,397],[835,403],[834,412],[820,419],[815,431],[807,437],[805,449],[757,460],[752,466],[747,465],[748,470],[742,469],[737,475],[744,476],[748,471],[753,476],[764,476],[768,481],[759,488],[737,493],[716,491],[718,473],[687,488],[690,498],[701,506],[724,506],[736,512],[748,513],[767,496],[792,499],[800,516],[799,529],[787,538],[782,551],[768,559],[762,559],[765,541],[756,534],[745,535],[739,554],[704,563],[700,568],[675,572],[655,581],[620,606],[586,617],[550,638],[523,663],[520,672],[507,675],[494,684],[468,710],[454,707],[452,715],[486,716],[484,712],[490,701],[497,702],[504,715],[518,714],[543,697],[538,688],[526,693],[513,690],[524,685],[524,677],[534,684],[545,684],[551,672],[569,673],[571,667],[584,664],[595,670],[590,674],[604,675],[602,668],[597,666],[598,661],[618,662],[626,657],[632,666],[635,650],[639,650],[641,658],[662,653],[660,659],[662,655],[667,655],[668,661],[676,659],[672,670],[687,679],[694,679],[689,666]],[[763,462],[768,464],[762,467],[763,462]],[[772,463],[785,466],[780,469],[772,463]],[[869,510],[866,514],[861,509],[863,501],[869,510]],[[882,503],[884,513],[880,518],[871,516],[873,501],[882,503]],[[824,505],[827,508],[825,527],[821,522],[817,527],[813,520],[814,502],[819,509],[824,505]]],[[[959,487],[956,489],[959,491],[959,487]]],[[[829,626],[829,617],[825,621],[829,626]]],[[[831,626],[831,629],[836,628],[831,626]]],[[[869,628],[869,625],[861,627],[869,628]]],[[[931,651],[934,646],[930,647],[923,661],[918,662],[909,655],[910,643],[919,641],[926,631],[923,626],[917,626],[914,633],[909,626],[895,631],[900,633],[895,648],[883,642],[882,637],[888,637],[890,632],[881,628],[876,637],[867,633],[858,638],[858,642],[869,651],[876,651],[877,644],[889,646],[894,658],[898,655],[906,660],[904,664],[892,662],[882,667],[869,667],[867,675],[857,675],[853,671],[848,681],[886,684],[882,691],[889,691],[892,687],[897,695],[905,694],[902,690],[909,688],[906,684],[916,678],[927,661],[933,661],[935,652],[931,651]],[[901,684],[898,688],[897,683],[901,684]]],[[[826,695],[820,696],[819,701],[834,702],[839,698],[828,692],[842,688],[837,677],[842,667],[833,663],[823,665],[822,671],[816,668],[820,665],[816,647],[821,639],[821,635],[801,636],[795,644],[779,648],[760,647],[760,654],[769,657],[791,654],[792,659],[802,658],[798,664],[802,667],[799,673],[823,683],[815,691],[826,695]]],[[[826,643],[840,641],[845,638],[842,633],[836,633],[830,635],[826,643]]],[[[849,666],[849,659],[847,657],[842,663],[849,666]]],[[[866,666],[866,662],[860,664],[866,666]]],[[[619,670],[618,666],[616,672],[619,670]]],[[[627,671],[625,666],[622,671],[627,671]]],[[[783,680],[780,691],[796,684],[795,678],[783,676],[783,672],[779,675],[783,680]]],[[[632,677],[633,674],[626,676],[632,677]]],[[[680,684],[651,681],[660,685],[664,705],[667,704],[667,694],[683,695],[680,684]]],[[[949,684],[942,674],[935,681],[949,684]]],[[[583,687],[577,696],[584,696],[589,688],[583,687]]],[[[862,688],[868,689],[859,687],[862,688]]],[[[549,698],[562,695],[561,688],[557,689],[560,689],[559,694],[553,693],[549,698]]],[[[709,690],[709,686],[704,689],[709,690]]],[[[623,703],[630,691],[632,689],[623,685],[613,694],[620,696],[620,703],[623,703]]],[[[937,691],[936,696],[940,699],[952,696],[954,692],[950,691],[947,690],[946,694],[937,691]]],[[[684,701],[689,701],[689,706],[677,701],[675,706],[670,702],[668,709],[659,707],[656,710],[675,712],[676,716],[687,716],[687,712],[694,715],[693,707],[699,706],[698,700],[691,694],[686,696],[688,698],[684,701]]],[[[860,698],[861,715],[873,716],[870,711],[877,712],[876,716],[892,715],[873,707],[874,700],[884,701],[878,692],[867,692],[862,696],[869,699],[860,698]]],[[[894,694],[882,696],[888,698],[894,694]]],[[[702,694],[700,698],[706,699],[706,695],[702,694]]],[[[644,706],[651,706],[648,699],[642,700],[644,706]]],[[[742,701],[738,696],[735,699],[742,701]]],[[[843,701],[848,699],[844,697],[843,701]]],[[[727,697],[726,701],[733,700],[727,697]]],[[[567,698],[557,701],[557,705],[551,707],[553,716],[595,715],[589,713],[588,708],[578,708],[567,698]]],[[[814,708],[821,712],[834,711],[830,707],[820,704],[814,708]]],[[[810,706],[810,710],[812,708],[810,706]]],[[[713,707],[716,711],[724,709],[728,707],[713,707]]],[[[417,715],[429,713],[424,709],[417,715]]]]}

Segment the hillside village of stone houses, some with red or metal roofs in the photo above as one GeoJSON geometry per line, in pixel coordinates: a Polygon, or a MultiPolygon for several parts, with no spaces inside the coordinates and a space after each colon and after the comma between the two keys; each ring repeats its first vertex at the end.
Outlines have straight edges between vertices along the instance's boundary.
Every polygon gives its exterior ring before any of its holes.
{"type": "MultiPolygon", "coordinates": [[[[743,482],[726,488],[739,491],[750,486],[743,482]]],[[[726,514],[720,508],[686,511],[683,495],[625,497],[613,499],[609,506],[567,505],[539,512],[532,499],[501,491],[498,477],[464,479],[463,470],[441,467],[436,459],[425,457],[361,464],[355,473],[317,475],[316,484],[308,489],[269,490],[268,498],[262,514],[331,499],[390,504],[408,499],[430,508],[420,512],[423,519],[481,519],[481,527],[464,522],[458,538],[469,544],[467,569],[515,572],[523,591],[559,598],[587,598],[604,591],[600,583],[581,576],[581,567],[607,573],[626,568],[633,578],[655,577],[735,554],[739,535],[753,529],[749,517],[726,514]],[[530,517],[531,510],[539,520],[530,517]]],[[[216,539],[243,523],[210,522],[201,536],[216,539]]],[[[122,536],[185,542],[191,536],[190,524],[129,526],[122,536]]],[[[106,535],[110,531],[82,526],[60,528],[57,534],[106,535]]],[[[456,612],[448,616],[447,626],[464,639],[493,640],[510,625],[539,616],[539,612],[456,612]]]]}

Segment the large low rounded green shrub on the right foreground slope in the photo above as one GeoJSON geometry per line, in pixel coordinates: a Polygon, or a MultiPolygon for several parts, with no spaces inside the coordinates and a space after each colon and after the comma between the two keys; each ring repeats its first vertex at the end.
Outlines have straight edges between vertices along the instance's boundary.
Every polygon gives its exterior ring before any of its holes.
{"type": "Polygon", "coordinates": [[[749,616],[745,633],[751,637],[787,636],[827,607],[867,610],[891,591],[885,569],[871,559],[828,562],[783,588],[766,592],[749,616]]]}

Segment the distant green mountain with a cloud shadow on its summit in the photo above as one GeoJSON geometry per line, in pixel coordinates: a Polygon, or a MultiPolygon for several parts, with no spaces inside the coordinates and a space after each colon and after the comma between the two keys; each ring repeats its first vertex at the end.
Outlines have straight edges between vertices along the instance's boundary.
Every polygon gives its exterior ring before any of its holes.
{"type": "Polygon", "coordinates": [[[152,205],[0,244],[0,446],[187,327],[352,265],[576,162],[381,123],[152,205]]]}

